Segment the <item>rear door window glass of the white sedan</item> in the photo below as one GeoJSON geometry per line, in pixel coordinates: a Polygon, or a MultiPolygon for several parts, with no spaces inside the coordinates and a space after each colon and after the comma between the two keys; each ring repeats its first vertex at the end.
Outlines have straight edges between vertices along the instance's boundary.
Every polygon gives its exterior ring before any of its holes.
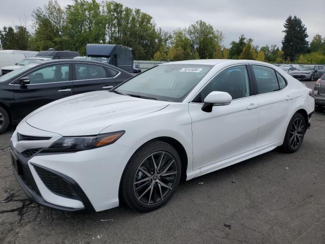
{"type": "Polygon", "coordinates": [[[258,94],[271,93],[279,90],[275,71],[269,67],[252,65],[258,94]]]}

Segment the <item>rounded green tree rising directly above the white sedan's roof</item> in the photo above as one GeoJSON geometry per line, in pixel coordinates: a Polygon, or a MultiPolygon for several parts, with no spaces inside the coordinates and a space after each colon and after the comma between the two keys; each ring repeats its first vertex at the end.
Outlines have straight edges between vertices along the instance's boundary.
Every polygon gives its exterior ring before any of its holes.
{"type": "Polygon", "coordinates": [[[198,53],[200,58],[212,58],[215,45],[220,45],[223,40],[222,32],[214,31],[212,25],[203,20],[191,24],[187,29],[187,35],[191,43],[192,55],[198,53]]]}

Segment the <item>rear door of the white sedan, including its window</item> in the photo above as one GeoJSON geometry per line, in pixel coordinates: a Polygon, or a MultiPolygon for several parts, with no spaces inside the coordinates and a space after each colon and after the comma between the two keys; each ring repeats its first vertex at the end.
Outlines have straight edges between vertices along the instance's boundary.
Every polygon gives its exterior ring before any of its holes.
{"type": "Polygon", "coordinates": [[[289,89],[286,80],[274,69],[251,65],[259,103],[259,127],[256,148],[282,140],[287,121],[299,95],[289,89]]]}

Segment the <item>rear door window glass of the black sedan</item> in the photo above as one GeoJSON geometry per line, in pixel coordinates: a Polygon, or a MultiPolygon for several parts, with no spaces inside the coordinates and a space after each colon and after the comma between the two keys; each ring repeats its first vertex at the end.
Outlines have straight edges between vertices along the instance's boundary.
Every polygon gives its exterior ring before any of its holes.
{"type": "Polygon", "coordinates": [[[105,68],[99,65],[76,64],[76,80],[107,78],[105,68]]]}

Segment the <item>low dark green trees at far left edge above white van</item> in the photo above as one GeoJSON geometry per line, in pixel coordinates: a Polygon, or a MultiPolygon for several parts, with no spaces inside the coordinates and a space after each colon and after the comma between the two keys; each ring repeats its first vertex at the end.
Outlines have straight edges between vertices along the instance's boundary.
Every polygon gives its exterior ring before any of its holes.
{"type": "Polygon", "coordinates": [[[29,33],[27,28],[22,25],[3,27],[0,31],[0,43],[3,49],[27,50],[29,33]]]}

